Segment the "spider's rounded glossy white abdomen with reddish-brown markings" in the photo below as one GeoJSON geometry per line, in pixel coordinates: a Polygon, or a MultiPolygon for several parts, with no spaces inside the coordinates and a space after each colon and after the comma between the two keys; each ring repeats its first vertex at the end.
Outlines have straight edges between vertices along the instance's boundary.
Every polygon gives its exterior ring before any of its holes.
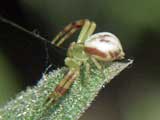
{"type": "Polygon", "coordinates": [[[124,58],[122,45],[112,33],[94,34],[85,41],[84,46],[85,52],[98,60],[108,62],[124,58]]]}

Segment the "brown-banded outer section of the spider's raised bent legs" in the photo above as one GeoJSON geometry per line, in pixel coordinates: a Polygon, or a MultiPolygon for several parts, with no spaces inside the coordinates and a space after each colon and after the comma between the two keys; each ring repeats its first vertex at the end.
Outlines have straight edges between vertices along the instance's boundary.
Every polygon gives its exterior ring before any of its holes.
{"type": "Polygon", "coordinates": [[[73,33],[75,33],[78,29],[83,26],[89,27],[90,21],[87,19],[78,20],[76,22],[70,23],[67,25],[63,31],[61,31],[51,42],[56,46],[60,46],[64,43],[66,39],[68,39],[73,33]]]}

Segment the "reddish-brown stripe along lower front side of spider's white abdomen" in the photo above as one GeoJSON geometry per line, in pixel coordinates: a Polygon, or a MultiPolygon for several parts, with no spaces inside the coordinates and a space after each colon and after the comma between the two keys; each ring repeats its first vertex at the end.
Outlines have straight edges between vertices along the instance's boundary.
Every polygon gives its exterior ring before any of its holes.
{"type": "Polygon", "coordinates": [[[91,54],[91,55],[97,55],[99,57],[102,57],[102,58],[105,58],[106,57],[106,54],[97,50],[96,48],[89,48],[89,47],[85,47],[84,48],[84,51],[88,54],[91,54]]]}

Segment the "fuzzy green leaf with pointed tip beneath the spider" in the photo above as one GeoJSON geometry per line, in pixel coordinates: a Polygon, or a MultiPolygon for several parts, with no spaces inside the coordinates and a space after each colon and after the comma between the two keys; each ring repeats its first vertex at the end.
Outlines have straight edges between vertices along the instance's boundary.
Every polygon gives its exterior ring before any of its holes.
{"type": "Polygon", "coordinates": [[[36,86],[27,88],[0,109],[0,120],[77,120],[104,85],[132,62],[129,60],[106,64],[103,73],[91,65],[89,79],[83,80],[85,77],[81,74],[68,93],[50,108],[46,108],[45,100],[63,79],[67,68],[44,74],[36,86]]]}

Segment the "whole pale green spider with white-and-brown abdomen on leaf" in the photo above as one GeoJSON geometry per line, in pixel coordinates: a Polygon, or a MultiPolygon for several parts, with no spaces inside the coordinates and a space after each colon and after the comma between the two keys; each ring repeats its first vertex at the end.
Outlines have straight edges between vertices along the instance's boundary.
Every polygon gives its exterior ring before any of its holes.
{"type": "Polygon", "coordinates": [[[88,19],[81,19],[67,25],[51,42],[60,47],[73,33],[80,28],[80,34],[76,42],[72,42],[67,51],[65,65],[69,68],[68,73],[48,96],[46,103],[53,105],[69,90],[72,83],[80,75],[82,65],[89,71],[92,61],[101,70],[99,61],[104,63],[124,58],[124,52],[119,39],[109,32],[93,34],[96,24],[88,19]],[[93,34],[93,35],[92,35],[93,34]]]}

